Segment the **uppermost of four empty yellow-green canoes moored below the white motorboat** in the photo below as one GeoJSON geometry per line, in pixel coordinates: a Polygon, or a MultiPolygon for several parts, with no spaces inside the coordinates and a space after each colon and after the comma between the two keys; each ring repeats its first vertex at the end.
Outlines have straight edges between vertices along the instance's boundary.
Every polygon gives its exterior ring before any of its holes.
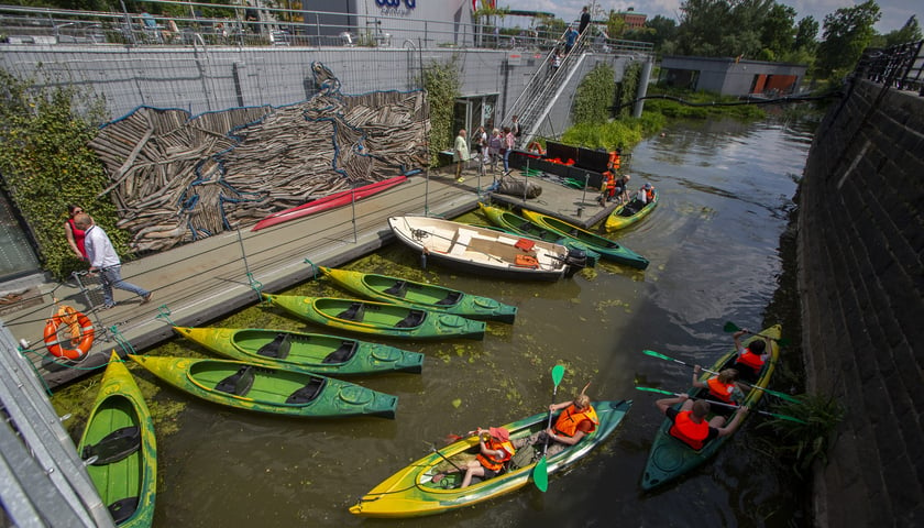
{"type": "Polygon", "coordinates": [[[442,314],[453,314],[466,319],[501,322],[514,322],[517,315],[515,306],[435,284],[418,283],[375,273],[351,272],[349,270],[332,270],[329,267],[319,267],[319,270],[339,286],[382,302],[394,302],[442,314]]]}

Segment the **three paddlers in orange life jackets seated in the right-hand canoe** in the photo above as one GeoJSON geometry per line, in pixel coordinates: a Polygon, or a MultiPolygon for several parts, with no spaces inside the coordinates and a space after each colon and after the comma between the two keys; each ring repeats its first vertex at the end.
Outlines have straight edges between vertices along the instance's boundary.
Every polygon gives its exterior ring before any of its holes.
{"type": "Polygon", "coordinates": [[[743,329],[734,334],[735,349],[738,352],[735,367],[723,369],[703,382],[700,380],[702,367],[695,365],[693,386],[706,392],[703,398],[693,399],[689,394],[681,394],[654,402],[658,409],[672,422],[668,432],[694,450],[703,449],[715,438],[735,432],[748,414],[746,405],[737,405],[744,399],[746,389],[746,384],[739,383],[738,380],[757,380],[769,359],[770,343],[768,338],[763,338],[744,345],[741,337],[746,333],[750,332],[743,329]],[[681,404],[679,409],[674,408],[676,404],[681,404]],[[735,408],[739,411],[728,421],[727,415],[735,408]],[[710,414],[714,416],[708,418],[710,414]]]}

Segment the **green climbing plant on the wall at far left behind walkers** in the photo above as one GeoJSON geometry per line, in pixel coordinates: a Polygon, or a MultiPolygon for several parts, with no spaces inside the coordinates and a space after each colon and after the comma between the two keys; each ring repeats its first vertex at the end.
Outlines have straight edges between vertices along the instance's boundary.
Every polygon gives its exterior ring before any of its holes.
{"type": "Polygon", "coordinates": [[[102,165],[87,143],[92,123],[105,121],[101,101],[77,89],[38,88],[0,70],[0,176],[38,245],[45,271],[64,278],[85,270],[67,244],[67,205],[81,206],[128,254],[127,232],[116,229],[116,207],[100,193],[109,185],[102,165]],[[79,100],[88,110],[75,110],[79,100]],[[87,105],[89,103],[89,105],[87,105]]]}

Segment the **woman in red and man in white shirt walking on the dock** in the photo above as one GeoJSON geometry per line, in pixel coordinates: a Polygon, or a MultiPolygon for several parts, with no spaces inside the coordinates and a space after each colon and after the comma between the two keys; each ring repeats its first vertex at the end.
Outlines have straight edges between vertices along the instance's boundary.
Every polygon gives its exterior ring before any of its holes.
{"type": "Polygon", "coordinates": [[[81,261],[89,263],[89,272],[99,274],[102,283],[102,306],[109,309],[116,306],[112,288],[124,289],[141,297],[141,304],[151,301],[153,294],[141,286],[122,279],[122,262],[112,246],[109,235],[94,222],[92,217],[80,206],[67,206],[68,218],[64,232],[70,250],[81,261]]]}

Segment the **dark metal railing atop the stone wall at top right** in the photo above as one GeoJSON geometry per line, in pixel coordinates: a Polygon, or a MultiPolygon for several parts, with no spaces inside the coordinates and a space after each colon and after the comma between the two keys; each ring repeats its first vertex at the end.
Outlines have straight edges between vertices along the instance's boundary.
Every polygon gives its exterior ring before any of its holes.
{"type": "Polygon", "coordinates": [[[924,41],[867,50],[857,64],[861,77],[924,97],[924,41]]]}

